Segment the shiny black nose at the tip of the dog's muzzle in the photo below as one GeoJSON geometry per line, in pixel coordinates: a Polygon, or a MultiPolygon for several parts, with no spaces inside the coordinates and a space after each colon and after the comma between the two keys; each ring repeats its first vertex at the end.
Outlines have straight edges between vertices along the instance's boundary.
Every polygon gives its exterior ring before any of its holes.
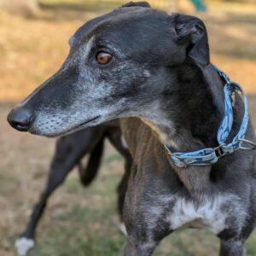
{"type": "Polygon", "coordinates": [[[14,108],[7,117],[9,124],[18,131],[28,131],[32,125],[32,111],[26,108],[14,108]]]}

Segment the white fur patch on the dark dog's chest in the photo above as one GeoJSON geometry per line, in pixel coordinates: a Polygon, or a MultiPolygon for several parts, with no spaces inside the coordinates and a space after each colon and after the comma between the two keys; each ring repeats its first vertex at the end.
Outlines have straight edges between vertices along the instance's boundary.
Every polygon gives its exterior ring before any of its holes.
{"type": "Polygon", "coordinates": [[[177,197],[172,206],[167,215],[171,230],[202,228],[218,234],[227,228],[231,216],[245,218],[233,196],[218,195],[197,202],[177,197]]]}

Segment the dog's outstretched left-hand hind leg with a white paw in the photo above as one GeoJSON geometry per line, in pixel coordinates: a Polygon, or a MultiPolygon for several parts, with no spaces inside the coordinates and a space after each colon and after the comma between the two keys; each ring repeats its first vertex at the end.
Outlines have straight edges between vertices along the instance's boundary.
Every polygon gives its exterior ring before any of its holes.
{"type": "Polygon", "coordinates": [[[49,196],[65,181],[68,173],[79,163],[84,154],[95,147],[101,136],[102,128],[93,128],[61,137],[57,141],[55,156],[50,166],[48,182],[44,192],[33,209],[26,230],[15,242],[19,256],[25,256],[34,246],[35,231],[44,213],[49,196]]]}

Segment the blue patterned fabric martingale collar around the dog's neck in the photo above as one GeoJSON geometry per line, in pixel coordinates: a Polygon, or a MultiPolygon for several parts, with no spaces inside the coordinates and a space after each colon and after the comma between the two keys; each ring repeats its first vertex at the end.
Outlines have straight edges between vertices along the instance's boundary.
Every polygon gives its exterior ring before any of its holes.
{"type": "Polygon", "coordinates": [[[228,76],[220,71],[218,67],[215,67],[218,71],[219,76],[224,79],[224,119],[218,129],[218,147],[216,148],[204,148],[201,150],[181,153],[175,152],[172,153],[169,148],[166,147],[167,154],[170,154],[171,160],[178,167],[187,167],[187,166],[207,166],[212,165],[218,161],[218,159],[225,154],[232,154],[237,149],[247,149],[253,150],[256,149],[256,143],[248,141],[245,139],[247,132],[247,125],[249,122],[248,106],[247,106],[247,96],[241,90],[241,87],[234,83],[230,82],[228,76]],[[235,91],[240,91],[243,96],[244,102],[244,116],[241,122],[241,127],[236,136],[233,138],[231,143],[225,143],[226,139],[230,135],[230,131],[233,125],[233,101],[232,95],[235,91]],[[247,147],[242,146],[243,143],[247,143],[247,147]]]}

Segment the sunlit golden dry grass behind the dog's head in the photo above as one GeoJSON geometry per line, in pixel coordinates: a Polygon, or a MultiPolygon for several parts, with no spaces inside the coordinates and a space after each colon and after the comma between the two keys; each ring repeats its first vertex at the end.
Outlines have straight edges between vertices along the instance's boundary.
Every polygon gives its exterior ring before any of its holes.
{"type": "MultiPolygon", "coordinates": [[[[249,7],[241,7],[239,13],[213,5],[201,18],[208,27],[212,61],[255,93],[256,5],[249,7]]],[[[45,9],[43,19],[30,20],[0,12],[0,102],[20,101],[61,66],[68,38],[103,11],[88,9],[45,9]]]]}

